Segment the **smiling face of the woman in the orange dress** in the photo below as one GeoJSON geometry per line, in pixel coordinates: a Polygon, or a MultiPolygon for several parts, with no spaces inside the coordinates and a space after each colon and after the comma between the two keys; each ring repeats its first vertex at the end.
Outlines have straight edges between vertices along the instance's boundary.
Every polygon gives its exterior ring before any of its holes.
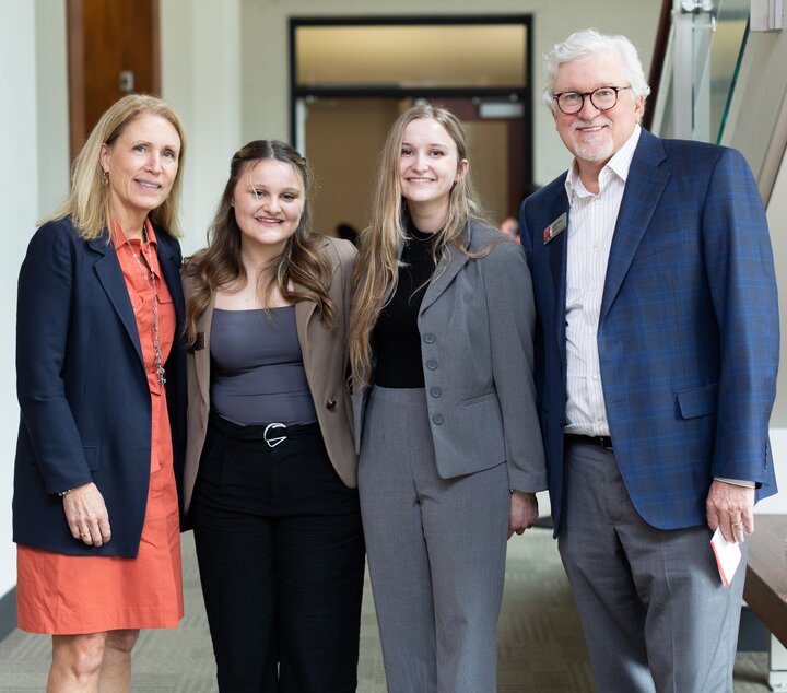
{"type": "Polygon", "coordinates": [[[143,114],[111,144],[103,144],[101,166],[109,180],[113,218],[136,235],[149,212],[166,200],[177,175],[180,137],[165,118],[143,114]]]}

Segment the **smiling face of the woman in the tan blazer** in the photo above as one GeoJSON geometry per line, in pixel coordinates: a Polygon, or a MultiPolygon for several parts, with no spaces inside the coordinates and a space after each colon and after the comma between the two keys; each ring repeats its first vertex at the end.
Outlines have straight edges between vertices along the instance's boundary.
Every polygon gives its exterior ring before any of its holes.
{"type": "Polygon", "coordinates": [[[275,158],[249,163],[232,197],[242,245],[280,255],[301,223],[304,198],[303,179],[292,164],[275,158]]]}

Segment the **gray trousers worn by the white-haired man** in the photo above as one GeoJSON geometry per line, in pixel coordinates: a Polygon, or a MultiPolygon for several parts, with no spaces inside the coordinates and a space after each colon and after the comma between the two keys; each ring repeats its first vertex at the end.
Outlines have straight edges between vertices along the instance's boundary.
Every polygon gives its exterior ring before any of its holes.
{"type": "Polygon", "coordinates": [[[566,438],[559,547],[601,693],[732,693],[745,575],[719,578],[707,526],[659,530],[614,453],[566,438]]]}

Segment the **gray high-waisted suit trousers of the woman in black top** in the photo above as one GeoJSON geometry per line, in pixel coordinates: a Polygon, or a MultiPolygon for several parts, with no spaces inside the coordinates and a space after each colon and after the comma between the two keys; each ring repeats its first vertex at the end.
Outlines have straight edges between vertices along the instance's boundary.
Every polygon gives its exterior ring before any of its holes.
{"type": "Polygon", "coordinates": [[[441,479],[424,390],[375,387],[359,491],[388,691],[494,693],[505,465],[441,479]]]}

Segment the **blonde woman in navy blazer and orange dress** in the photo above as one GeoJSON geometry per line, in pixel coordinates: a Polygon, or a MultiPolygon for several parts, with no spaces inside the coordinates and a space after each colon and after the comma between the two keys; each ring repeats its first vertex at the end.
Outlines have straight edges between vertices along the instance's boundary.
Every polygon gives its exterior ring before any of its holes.
{"type": "Polygon", "coordinates": [[[140,629],[183,616],[184,149],[164,102],[114,104],[20,272],[16,595],[52,635],[47,691],[128,689],[140,629]]]}

